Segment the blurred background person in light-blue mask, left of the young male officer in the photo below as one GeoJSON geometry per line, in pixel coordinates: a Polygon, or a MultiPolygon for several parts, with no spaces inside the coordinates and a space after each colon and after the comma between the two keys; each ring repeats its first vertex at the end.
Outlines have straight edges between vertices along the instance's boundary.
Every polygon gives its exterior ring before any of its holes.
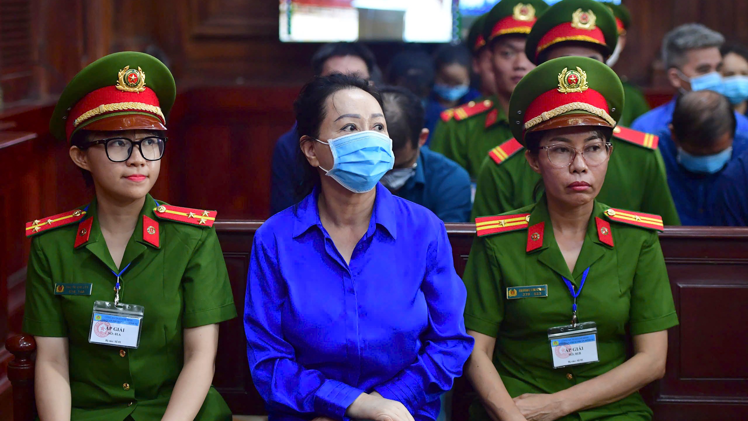
{"type": "Polygon", "coordinates": [[[426,101],[429,132],[434,130],[444,110],[480,97],[478,91],[470,88],[470,61],[470,50],[462,45],[443,45],[434,53],[434,86],[426,101]]]}

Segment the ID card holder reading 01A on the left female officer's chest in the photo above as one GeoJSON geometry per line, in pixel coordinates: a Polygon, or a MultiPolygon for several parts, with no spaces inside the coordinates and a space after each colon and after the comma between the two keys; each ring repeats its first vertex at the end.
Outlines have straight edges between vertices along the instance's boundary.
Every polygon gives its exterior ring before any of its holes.
{"type": "Polygon", "coordinates": [[[88,342],[120,348],[138,348],[143,311],[143,306],[135,304],[94,302],[88,342]]]}

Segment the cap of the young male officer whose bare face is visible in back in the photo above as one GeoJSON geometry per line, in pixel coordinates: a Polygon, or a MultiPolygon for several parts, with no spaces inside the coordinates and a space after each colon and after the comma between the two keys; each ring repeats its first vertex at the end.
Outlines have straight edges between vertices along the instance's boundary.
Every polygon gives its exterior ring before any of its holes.
{"type": "Polygon", "coordinates": [[[510,34],[530,34],[530,29],[548,9],[542,0],[501,0],[485,14],[483,38],[486,43],[510,34]]]}

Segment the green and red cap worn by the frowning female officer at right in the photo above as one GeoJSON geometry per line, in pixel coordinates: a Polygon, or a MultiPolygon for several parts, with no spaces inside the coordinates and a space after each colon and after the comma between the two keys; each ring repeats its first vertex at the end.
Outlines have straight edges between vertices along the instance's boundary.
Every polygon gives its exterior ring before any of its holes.
{"type": "Polygon", "coordinates": [[[509,126],[525,145],[524,136],[532,131],[616,127],[622,109],[623,86],[610,67],[588,57],[554,58],[517,84],[509,100],[509,126]]]}

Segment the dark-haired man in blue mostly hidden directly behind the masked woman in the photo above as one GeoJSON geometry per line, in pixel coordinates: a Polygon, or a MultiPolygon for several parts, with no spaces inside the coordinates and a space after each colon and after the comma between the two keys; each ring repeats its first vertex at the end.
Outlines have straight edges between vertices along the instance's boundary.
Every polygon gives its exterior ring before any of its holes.
{"type": "MultiPolygon", "coordinates": [[[[321,46],[312,57],[312,69],[317,76],[349,73],[364,79],[381,78],[373,52],[361,43],[328,43],[321,46]]],[[[298,165],[298,138],[294,124],[275,143],[270,178],[271,215],[297,202],[296,188],[304,178],[298,165]]]]}

